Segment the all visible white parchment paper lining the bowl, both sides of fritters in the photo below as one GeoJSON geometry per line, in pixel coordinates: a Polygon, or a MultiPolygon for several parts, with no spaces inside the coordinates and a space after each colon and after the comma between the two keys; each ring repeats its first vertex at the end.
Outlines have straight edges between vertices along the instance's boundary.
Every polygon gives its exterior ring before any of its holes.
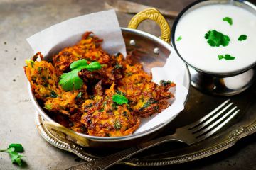
{"type": "MultiPolygon", "coordinates": [[[[34,53],[41,52],[44,56],[51,57],[64,47],[75,45],[86,31],[92,31],[102,38],[104,40],[102,48],[111,55],[117,52],[122,52],[124,56],[127,55],[122,31],[114,10],[71,18],[32,35],[27,41],[34,53]]],[[[171,106],[161,113],[149,118],[142,118],[142,124],[134,133],[149,130],[156,125],[172,120],[183,110],[183,103],[188,94],[188,89],[183,86],[185,69],[185,65],[173,50],[164,67],[151,70],[153,81],[157,84],[162,79],[176,83],[176,87],[171,89],[175,98],[169,101],[171,106]]]]}

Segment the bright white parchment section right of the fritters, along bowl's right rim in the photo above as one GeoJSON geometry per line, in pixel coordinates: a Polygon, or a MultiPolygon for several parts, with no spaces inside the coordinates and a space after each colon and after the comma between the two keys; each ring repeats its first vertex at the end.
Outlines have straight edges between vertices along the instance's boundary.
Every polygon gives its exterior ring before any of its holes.
{"type": "Polygon", "coordinates": [[[161,111],[161,113],[154,114],[149,118],[142,118],[142,123],[135,133],[149,130],[161,123],[166,123],[166,121],[174,119],[176,115],[184,109],[184,101],[188,95],[188,89],[183,86],[185,69],[186,67],[183,64],[183,61],[178,57],[174,50],[167,58],[164,67],[154,67],[151,69],[152,81],[156,84],[159,84],[161,80],[170,80],[176,84],[176,87],[171,89],[175,98],[169,100],[171,106],[161,111]]]}

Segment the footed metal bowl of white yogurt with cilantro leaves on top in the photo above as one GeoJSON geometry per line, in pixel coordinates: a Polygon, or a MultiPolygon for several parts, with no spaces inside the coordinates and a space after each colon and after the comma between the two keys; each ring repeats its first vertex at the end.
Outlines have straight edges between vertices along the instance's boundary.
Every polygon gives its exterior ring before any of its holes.
{"type": "Polygon", "coordinates": [[[190,67],[194,87],[218,96],[239,94],[256,77],[256,6],[196,1],[174,21],[171,43],[190,67]]]}

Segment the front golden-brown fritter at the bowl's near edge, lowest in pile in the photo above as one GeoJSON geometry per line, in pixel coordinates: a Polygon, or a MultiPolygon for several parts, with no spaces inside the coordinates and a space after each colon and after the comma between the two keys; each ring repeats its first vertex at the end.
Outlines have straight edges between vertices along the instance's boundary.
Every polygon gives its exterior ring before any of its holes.
{"type": "Polygon", "coordinates": [[[112,101],[115,94],[114,84],[102,96],[85,100],[85,111],[81,122],[85,124],[88,134],[93,136],[124,136],[137,130],[140,120],[127,104],[117,105],[112,101]]]}

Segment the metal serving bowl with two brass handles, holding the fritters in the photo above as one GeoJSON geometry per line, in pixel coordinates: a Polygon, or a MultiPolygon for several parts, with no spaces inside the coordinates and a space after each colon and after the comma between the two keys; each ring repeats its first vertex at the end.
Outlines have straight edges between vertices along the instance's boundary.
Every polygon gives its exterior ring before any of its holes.
{"type": "MultiPolygon", "coordinates": [[[[127,53],[133,51],[134,55],[139,58],[140,62],[144,66],[144,70],[149,72],[152,67],[162,67],[166,62],[166,58],[169,57],[171,52],[174,52],[170,42],[171,30],[169,24],[164,19],[164,17],[155,8],[146,9],[140,13],[137,13],[134,18],[129,23],[128,28],[121,28],[122,35],[124,37],[125,45],[127,47],[127,53]],[[156,21],[161,28],[161,39],[154,35],[145,33],[141,30],[136,30],[139,23],[146,19],[151,19],[156,21]]],[[[181,61],[182,62],[182,61],[181,61]]],[[[183,64],[183,69],[185,69],[185,76],[183,81],[183,86],[189,89],[191,86],[191,78],[186,64],[183,64]]],[[[122,136],[122,137],[97,137],[85,135],[82,133],[74,132],[63,125],[56,123],[50,116],[43,111],[43,108],[38,104],[33,92],[31,91],[31,86],[28,85],[29,94],[33,104],[36,106],[36,110],[43,117],[43,125],[47,128],[50,134],[54,135],[58,139],[75,142],[82,147],[128,147],[137,144],[142,141],[146,141],[154,137],[158,132],[160,132],[165,125],[171,122],[175,116],[171,118],[166,118],[166,122],[157,125],[154,128],[145,130],[143,132],[138,132],[132,135],[122,136]]],[[[186,97],[187,100],[188,96],[186,97]]],[[[184,101],[184,104],[186,103],[184,101]]]]}

